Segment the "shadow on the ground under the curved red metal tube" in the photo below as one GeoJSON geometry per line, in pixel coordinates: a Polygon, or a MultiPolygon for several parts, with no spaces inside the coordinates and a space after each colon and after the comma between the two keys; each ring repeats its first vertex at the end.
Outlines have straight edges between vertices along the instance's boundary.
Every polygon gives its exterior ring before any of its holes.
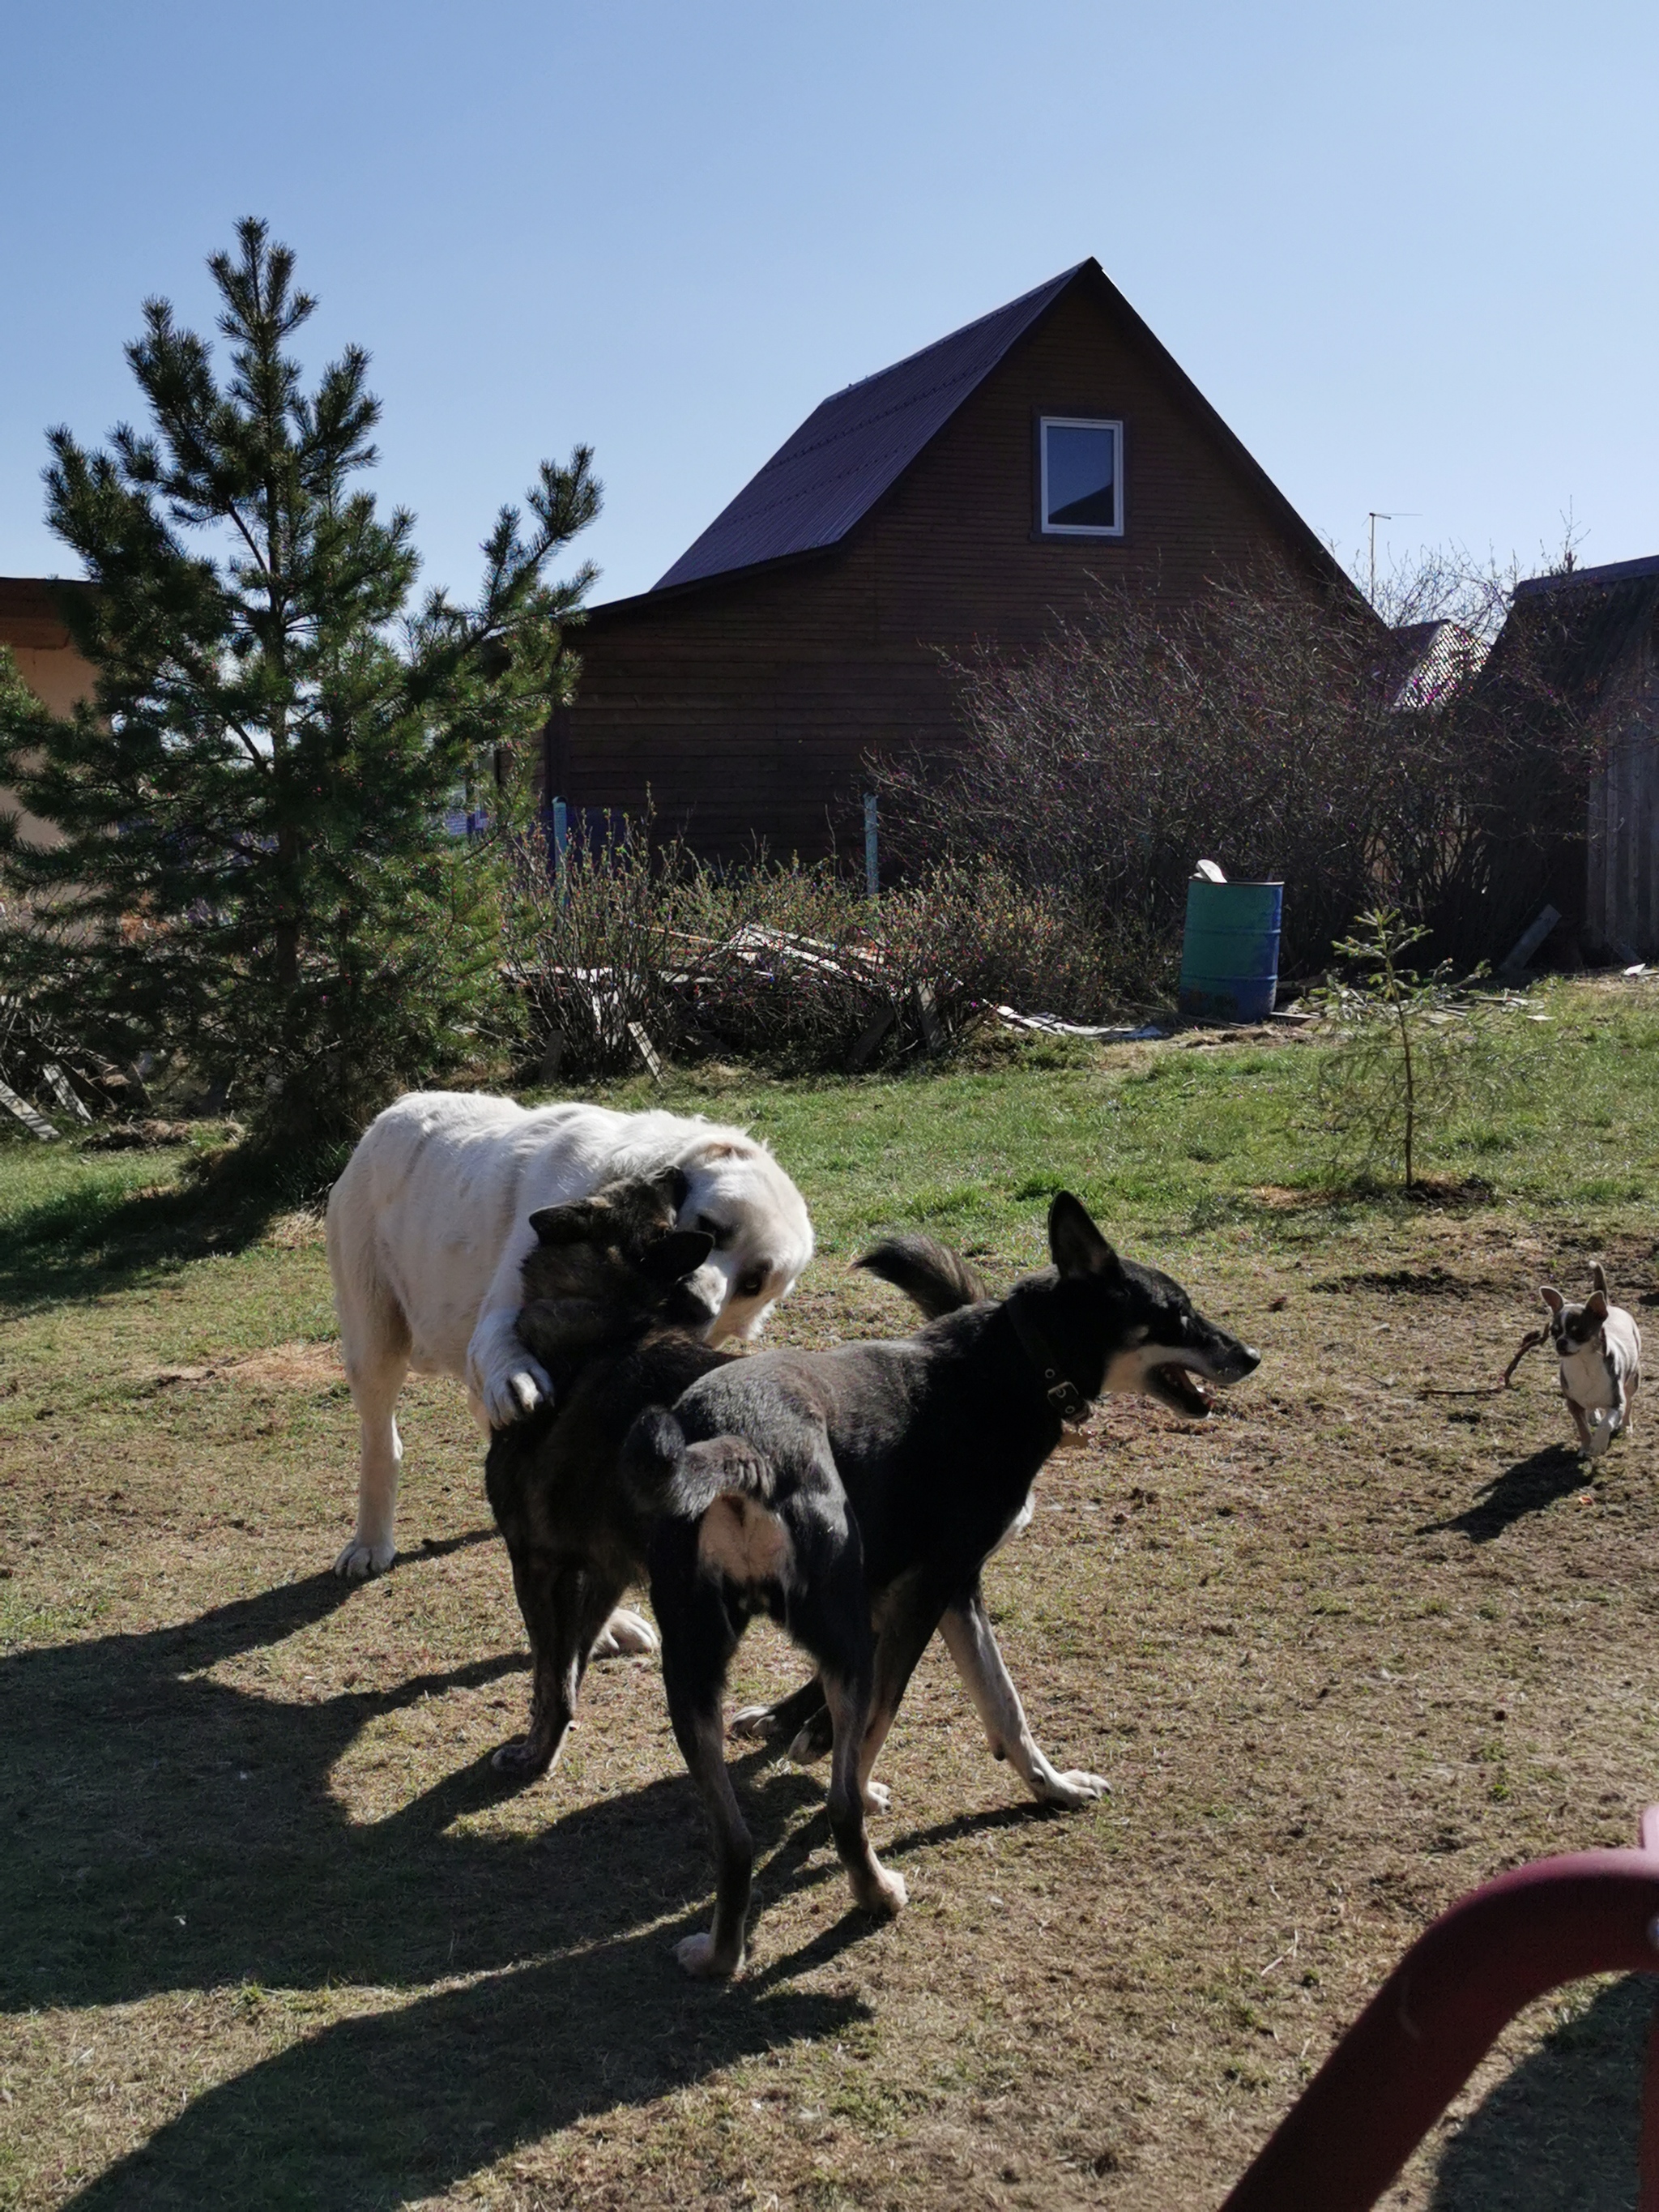
{"type": "Polygon", "coordinates": [[[1630,2212],[1652,1978],[1601,1989],[1440,2152],[1429,2212],[1630,2212]]]}

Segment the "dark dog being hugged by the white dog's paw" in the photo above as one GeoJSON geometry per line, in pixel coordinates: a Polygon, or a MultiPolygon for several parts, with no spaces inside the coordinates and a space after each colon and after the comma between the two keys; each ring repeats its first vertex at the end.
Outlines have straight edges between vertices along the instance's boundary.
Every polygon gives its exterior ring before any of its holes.
{"type": "Polygon", "coordinates": [[[498,1429],[484,1462],[533,1663],[529,1734],[495,1767],[524,1781],[560,1756],[593,1639],[646,1577],[650,1524],[617,1484],[622,1440],[644,1405],[730,1358],[703,1343],[714,1312],[692,1279],[714,1239],[675,1228],[684,1203],[670,1168],[531,1214],[518,1334],[553,1398],[498,1429]]]}

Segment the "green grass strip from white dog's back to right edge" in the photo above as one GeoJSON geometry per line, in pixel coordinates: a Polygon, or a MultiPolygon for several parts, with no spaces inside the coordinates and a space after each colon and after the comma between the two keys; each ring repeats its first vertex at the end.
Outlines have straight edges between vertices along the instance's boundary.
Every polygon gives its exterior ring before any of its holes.
{"type": "MultiPolygon", "coordinates": [[[[905,1225],[1035,1252],[1060,1188],[1126,1243],[1228,1219],[1296,1239],[1296,1210],[1261,1192],[1323,1194],[1327,1221],[1405,1203],[1398,1168],[1358,1172],[1334,1155],[1318,1057],[1305,1042],[1239,1048],[1199,1033],[1150,1048],[1009,1046],[991,1066],[858,1082],[692,1071],[664,1091],[639,1079],[602,1095],[757,1128],[812,1190],[830,1252],[905,1225]]],[[[1427,1133],[1429,1179],[1478,1177],[1500,1206],[1564,1212],[1621,1217],[1646,1201],[1659,1170],[1659,989],[1540,987],[1498,1026],[1498,1062],[1495,1110],[1427,1133]]]]}

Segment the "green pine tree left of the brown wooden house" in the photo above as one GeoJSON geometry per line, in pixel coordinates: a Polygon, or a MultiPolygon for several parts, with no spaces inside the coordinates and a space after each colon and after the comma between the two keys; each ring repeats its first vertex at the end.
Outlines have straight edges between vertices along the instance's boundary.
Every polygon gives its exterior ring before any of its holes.
{"type": "Polygon", "coordinates": [[[586,447],[542,462],[529,520],[502,507],[484,542],[478,604],[411,606],[414,518],[354,482],[376,460],[367,354],[307,394],[294,257],[261,221],[237,237],[208,263],[230,374],[153,299],[126,349],[150,429],[106,451],[49,434],[97,690],[60,719],[0,668],[0,783],[64,832],[0,823],[0,958],[62,1035],[349,1133],[500,1011],[500,883],[595,575],[544,571],[599,484],[586,447]],[[489,834],[458,838],[445,814],[476,787],[489,834]]]}

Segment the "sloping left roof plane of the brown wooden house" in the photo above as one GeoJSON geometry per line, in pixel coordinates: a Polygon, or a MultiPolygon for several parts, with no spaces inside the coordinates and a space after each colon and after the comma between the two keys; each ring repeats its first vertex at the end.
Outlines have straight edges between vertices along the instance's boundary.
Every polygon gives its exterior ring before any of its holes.
{"type": "Polygon", "coordinates": [[[728,568],[836,544],[1088,265],[1079,261],[1035,292],[814,407],[653,588],[695,584],[728,568]]]}

